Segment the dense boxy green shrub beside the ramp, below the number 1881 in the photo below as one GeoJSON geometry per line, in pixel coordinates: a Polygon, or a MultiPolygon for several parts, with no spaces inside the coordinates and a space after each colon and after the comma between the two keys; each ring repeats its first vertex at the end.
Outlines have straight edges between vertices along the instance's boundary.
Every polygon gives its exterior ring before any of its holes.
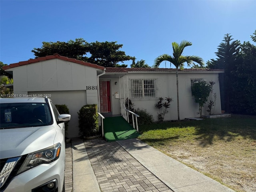
{"type": "Polygon", "coordinates": [[[96,104],[85,105],[78,112],[79,134],[84,137],[98,134],[98,108],[96,104]]]}

